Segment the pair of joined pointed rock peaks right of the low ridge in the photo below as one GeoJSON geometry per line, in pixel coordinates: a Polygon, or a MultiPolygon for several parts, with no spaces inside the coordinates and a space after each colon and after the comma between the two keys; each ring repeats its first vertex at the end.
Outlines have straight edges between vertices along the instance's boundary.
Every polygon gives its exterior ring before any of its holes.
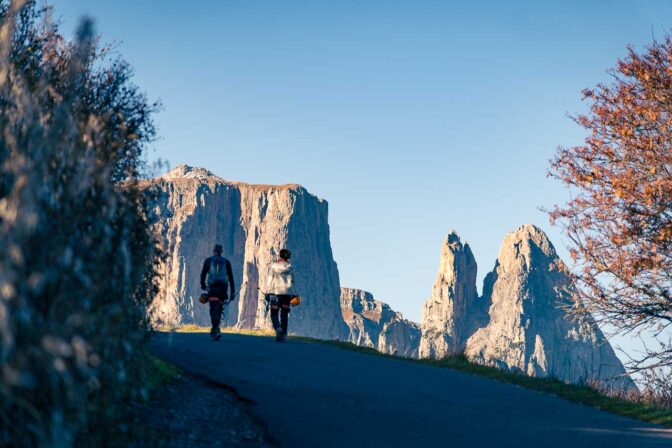
{"type": "Polygon", "coordinates": [[[464,353],[473,362],[530,376],[635,387],[593,319],[567,313],[576,293],[548,237],[524,225],[504,239],[478,297],[476,261],[450,233],[423,308],[420,356],[464,353]]]}

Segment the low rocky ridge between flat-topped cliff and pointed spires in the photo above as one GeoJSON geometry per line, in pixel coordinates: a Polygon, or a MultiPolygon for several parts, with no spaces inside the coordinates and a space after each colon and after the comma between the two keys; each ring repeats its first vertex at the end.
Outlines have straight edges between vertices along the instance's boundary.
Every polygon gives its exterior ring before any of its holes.
{"type": "Polygon", "coordinates": [[[370,293],[341,288],[341,313],[349,328],[347,341],[392,355],[418,356],[419,326],[370,293]]]}

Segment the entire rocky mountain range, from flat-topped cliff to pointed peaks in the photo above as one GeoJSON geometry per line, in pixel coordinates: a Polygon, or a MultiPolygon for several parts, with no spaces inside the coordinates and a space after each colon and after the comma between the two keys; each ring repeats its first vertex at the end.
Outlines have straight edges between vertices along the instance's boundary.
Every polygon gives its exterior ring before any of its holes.
{"type": "Polygon", "coordinates": [[[303,298],[292,310],[292,333],[408,357],[464,353],[474,362],[532,376],[634,387],[596,323],[568,315],[576,289],[537,227],[507,235],[481,296],[471,249],[451,232],[418,326],[365,291],[340,288],[327,202],[300,185],[232,182],[180,165],[141,187],[150,194],[167,255],[159,296],[149,310],[156,324],[209,325],[208,307],[197,300],[199,274],[220,243],[240,287],[224,324],[270,328],[260,288],[270,262],[288,247],[303,298]]]}

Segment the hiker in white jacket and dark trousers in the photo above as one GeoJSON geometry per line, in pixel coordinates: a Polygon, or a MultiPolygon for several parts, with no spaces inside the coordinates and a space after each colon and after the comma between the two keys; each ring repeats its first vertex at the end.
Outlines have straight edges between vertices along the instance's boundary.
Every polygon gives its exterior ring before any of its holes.
{"type": "Polygon", "coordinates": [[[294,273],[289,262],[291,256],[289,250],[282,249],[280,258],[271,263],[266,276],[266,299],[271,302],[271,321],[277,342],[284,342],[287,337],[289,304],[292,297],[296,296],[294,273]]]}

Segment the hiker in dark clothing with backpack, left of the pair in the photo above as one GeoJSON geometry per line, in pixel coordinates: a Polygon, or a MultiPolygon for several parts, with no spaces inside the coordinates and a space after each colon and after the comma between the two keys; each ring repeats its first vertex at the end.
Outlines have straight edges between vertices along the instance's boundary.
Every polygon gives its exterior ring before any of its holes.
{"type": "Polygon", "coordinates": [[[210,337],[217,341],[221,337],[219,324],[222,320],[222,307],[228,300],[227,287],[231,291],[231,300],[233,300],[236,290],[231,263],[222,256],[222,251],[222,245],[216,244],[215,254],[205,260],[201,270],[201,289],[207,291],[210,302],[210,321],[212,323],[210,337]]]}

